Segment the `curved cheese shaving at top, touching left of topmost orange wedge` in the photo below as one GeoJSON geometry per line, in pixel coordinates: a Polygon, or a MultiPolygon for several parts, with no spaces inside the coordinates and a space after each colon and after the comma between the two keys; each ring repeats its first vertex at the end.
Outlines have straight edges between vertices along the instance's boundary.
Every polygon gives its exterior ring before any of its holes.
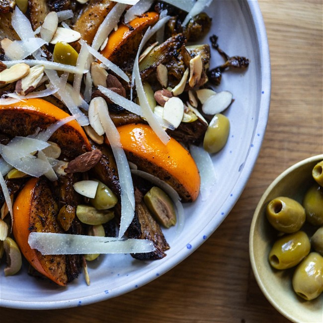
{"type": "Polygon", "coordinates": [[[99,50],[104,40],[108,37],[114,26],[118,24],[127,4],[117,3],[100,24],[92,41],[92,48],[99,50]]]}

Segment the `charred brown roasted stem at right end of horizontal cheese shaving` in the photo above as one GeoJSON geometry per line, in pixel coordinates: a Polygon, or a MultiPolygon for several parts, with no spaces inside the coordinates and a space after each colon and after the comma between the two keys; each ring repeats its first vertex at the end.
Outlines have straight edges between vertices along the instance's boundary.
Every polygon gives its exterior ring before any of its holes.
{"type": "Polygon", "coordinates": [[[135,217],[128,228],[128,238],[148,239],[154,242],[155,251],[148,253],[136,253],[132,256],[139,260],[161,259],[165,254],[165,250],[169,249],[169,244],[161,231],[160,225],[153,218],[143,201],[143,193],[135,188],[135,217]]]}

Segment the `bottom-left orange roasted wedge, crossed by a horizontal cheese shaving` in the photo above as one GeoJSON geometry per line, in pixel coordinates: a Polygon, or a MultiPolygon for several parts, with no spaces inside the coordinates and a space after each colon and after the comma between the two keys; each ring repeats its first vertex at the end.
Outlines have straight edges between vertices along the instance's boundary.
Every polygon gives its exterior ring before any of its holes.
{"type": "MultiPolygon", "coordinates": [[[[77,259],[68,264],[66,255],[42,255],[38,250],[31,249],[28,244],[30,232],[63,233],[56,220],[58,205],[44,178],[31,178],[19,192],[13,205],[12,232],[22,254],[40,273],[61,286],[65,286],[79,273],[67,273],[68,268],[75,269],[77,259]]],[[[79,258],[79,256],[76,256],[79,258]]],[[[75,257],[74,257],[75,258],[75,257]]]]}

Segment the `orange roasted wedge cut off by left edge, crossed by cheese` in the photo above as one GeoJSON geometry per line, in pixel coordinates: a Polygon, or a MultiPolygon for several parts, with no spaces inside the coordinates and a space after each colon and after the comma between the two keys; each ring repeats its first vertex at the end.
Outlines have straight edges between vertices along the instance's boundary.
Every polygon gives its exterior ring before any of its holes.
{"type": "MultiPolygon", "coordinates": [[[[29,136],[37,129],[47,129],[52,123],[69,116],[43,99],[25,99],[9,105],[0,105],[0,129],[10,137],[29,136]]],[[[51,137],[66,156],[74,157],[91,149],[88,139],[76,120],[60,127],[51,137]]]]}

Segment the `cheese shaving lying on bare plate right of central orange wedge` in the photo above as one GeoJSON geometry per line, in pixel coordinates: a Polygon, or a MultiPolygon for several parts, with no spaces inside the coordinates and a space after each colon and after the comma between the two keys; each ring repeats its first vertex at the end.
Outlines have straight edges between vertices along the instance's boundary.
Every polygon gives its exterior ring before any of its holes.
{"type": "Polygon", "coordinates": [[[197,165],[201,177],[201,197],[202,201],[206,201],[211,193],[212,187],[216,183],[216,174],[210,154],[203,149],[191,145],[189,151],[197,165]]]}

